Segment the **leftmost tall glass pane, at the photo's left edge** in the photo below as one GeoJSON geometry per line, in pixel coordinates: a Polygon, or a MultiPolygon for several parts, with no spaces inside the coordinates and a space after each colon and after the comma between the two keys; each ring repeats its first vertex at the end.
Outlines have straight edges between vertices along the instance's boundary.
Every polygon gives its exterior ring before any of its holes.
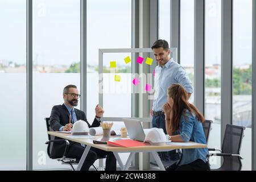
{"type": "Polygon", "coordinates": [[[26,1],[0,0],[0,25],[0,170],[26,170],[26,1]]]}

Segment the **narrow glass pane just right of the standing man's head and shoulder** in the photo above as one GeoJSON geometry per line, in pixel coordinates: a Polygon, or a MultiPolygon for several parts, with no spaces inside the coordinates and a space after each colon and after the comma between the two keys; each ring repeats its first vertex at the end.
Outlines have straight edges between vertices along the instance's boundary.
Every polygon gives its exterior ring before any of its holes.
{"type": "MultiPolygon", "coordinates": [[[[194,1],[180,1],[180,64],[194,85],[194,1]]],[[[194,101],[192,93],[190,102],[194,101]]]]}

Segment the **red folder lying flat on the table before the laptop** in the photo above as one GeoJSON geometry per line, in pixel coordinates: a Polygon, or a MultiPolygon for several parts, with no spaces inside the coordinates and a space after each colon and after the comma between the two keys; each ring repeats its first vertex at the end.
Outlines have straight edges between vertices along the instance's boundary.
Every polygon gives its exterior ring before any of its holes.
{"type": "Polygon", "coordinates": [[[114,142],[108,141],[108,146],[113,147],[139,147],[139,146],[147,146],[146,143],[138,142],[136,140],[131,139],[121,139],[121,140],[115,140],[114,142]]]}

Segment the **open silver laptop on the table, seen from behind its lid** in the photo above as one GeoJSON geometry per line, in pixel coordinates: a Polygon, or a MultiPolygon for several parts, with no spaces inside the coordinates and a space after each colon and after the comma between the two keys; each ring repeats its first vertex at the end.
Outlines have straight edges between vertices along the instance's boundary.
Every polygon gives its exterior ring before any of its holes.
{"type": "Polygon", "coordinates": [[[138,119],[123,118],[123,122],[125,123],[125,127],[130,139],[144,142],[145,134],[141,125],[141,121],[138,119]]]}

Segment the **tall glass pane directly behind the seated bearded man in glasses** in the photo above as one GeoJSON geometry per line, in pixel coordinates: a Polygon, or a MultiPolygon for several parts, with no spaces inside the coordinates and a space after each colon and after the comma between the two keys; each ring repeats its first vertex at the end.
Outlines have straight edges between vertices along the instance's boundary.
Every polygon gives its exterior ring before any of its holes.
{"type": "Polygon", "coordinates": [[[33,169],[69,168],[48,158],[44,118],[63,104],[66,85],[80,90],[80,1],[36,0],[32,10],[33,169]]]}

